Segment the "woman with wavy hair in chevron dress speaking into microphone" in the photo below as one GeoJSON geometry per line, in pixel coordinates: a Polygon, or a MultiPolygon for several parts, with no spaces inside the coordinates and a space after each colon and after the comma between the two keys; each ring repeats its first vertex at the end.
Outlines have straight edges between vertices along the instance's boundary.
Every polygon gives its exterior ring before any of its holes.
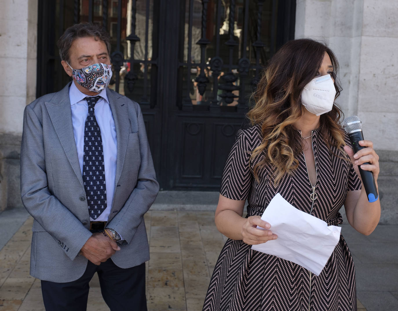
{"type": "Polygon", "coordinates": [[[378,156],[368,140],[356,154],[350,148],[334,103],[341,90],[337,72],[334,53],[311,39],[287,42],[270,60],[248,113],[253,126],[238,132],[224,168],[215,222],[229,239],[203,310],[357,310],[355,269],[343,236],[319,276],[251,249],[277,239],[260,217],[278,192],[328,225],[343,222],[343,205],[357,231],[369,235],[378,224],[380,201],[368,201],[358,171],[371,171],[377,185],[378,156]]]}

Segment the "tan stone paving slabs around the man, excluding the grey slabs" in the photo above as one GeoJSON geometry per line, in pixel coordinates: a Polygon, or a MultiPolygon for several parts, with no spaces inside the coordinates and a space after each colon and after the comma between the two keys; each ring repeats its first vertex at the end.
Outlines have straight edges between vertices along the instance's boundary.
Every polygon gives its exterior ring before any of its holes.
{"type": "MultiPolygon", "coordinates": [[[[146,264],[148,310],[201,310],[225,240],[214,225],[214,212],[150,211],[145,222],[151,258],[146,264]]],[[[44,310],[40,281],[29,276],[32,223],[29,216],[0,251],[0,310],[44,310]]],[[[105,310],[95,277],[88,311],[105,310]]]]}

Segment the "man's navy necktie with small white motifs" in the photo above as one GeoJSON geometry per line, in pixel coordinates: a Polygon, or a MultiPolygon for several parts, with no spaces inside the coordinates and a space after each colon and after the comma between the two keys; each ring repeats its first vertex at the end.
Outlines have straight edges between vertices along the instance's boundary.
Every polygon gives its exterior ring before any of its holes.
{"type": "Polygon", "coordinates": [[[85,99],[88,103],[88,116],[84,124],[83,182],[88,212],[91,218],[97,219],[107,206],[101,131],[94,113],[94,106],[100,96],[85,99]]]}

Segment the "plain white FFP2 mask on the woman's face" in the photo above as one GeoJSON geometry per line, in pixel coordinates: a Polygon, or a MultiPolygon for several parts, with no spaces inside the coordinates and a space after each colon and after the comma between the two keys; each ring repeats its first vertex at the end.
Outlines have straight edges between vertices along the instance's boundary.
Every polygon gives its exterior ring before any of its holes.
{"type": "Polygon", "coordinates": [[[301,92],[301,102],[314,115],[320,116],[332,110],[336,88],[330,74],[312,79],[301,92]]]}

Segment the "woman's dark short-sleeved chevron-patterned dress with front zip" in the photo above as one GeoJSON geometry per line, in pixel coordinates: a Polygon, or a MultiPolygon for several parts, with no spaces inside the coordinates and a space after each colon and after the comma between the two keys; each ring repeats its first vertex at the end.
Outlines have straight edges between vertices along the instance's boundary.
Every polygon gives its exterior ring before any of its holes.
{"type": "MultiPolygon", "coordinates": [[[[268,179],[271,167],[261,169],[260,183],[255,181],[249,158],[261,138],[257,125],[238,132],[225,165],[220,193],[233,200],[247,199],[248,216],[262,215],[277,192],[299,210],[309,213],[312,186],[303,153],[297,157],[299,166],[295,173],[286,174],[276,189],[268,179]]],[[[349,144],[347,136],[345,140],[349,144]]],[[[347,191],[361,189],[361,182],[351,162],[329,152],[320,128],[312,131],[312,148],[318,194],[312,215],[328,225],[341,224],[339,209],[347,191]]],[[[343,156],[336,148],[332,152],[343,156]]],[[[325,268],[315,276],[298,264],[254,251],[243,241],[228,239],[217,260],[203,310],[356,311],[351,253],[341,235],[325,268]]]]}

